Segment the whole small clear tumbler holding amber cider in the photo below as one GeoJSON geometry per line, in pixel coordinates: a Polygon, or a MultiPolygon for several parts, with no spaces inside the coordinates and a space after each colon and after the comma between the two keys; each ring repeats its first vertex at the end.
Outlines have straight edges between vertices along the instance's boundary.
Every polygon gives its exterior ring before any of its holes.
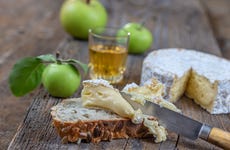
{"type": "Polygon", "coordinates": [[[106,27],[89,30],[89,76],[118,83],[123,79],[128,57],[129,33],[106,27]]]}

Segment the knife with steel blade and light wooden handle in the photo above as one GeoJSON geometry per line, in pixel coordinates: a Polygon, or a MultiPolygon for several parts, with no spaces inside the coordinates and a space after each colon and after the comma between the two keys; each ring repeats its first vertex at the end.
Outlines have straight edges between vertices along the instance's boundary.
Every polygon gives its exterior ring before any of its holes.
{"type": "Polygon", "coordinates": [[[129,94],[124,92],[120,93],[134,109],[141,109],[144,114],[157,117],[159,119],[159,123],[166,129],[192,140],[201,138],[216,146],[230,150],[229,132],[203,124],[147,100],[144,105],[141,105],[131,100],[131,96],[129,94]]]}

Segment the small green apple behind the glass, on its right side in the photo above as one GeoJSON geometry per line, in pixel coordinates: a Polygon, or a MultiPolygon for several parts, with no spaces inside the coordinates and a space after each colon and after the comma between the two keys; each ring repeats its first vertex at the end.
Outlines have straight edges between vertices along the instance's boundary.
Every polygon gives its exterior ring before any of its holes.
{"type": "Polygon", "coordinates": [[[130,33],[129,53],[141,54],[151,47],[153,35],[143,25],[128,23],[122,29],[130,33]]]}

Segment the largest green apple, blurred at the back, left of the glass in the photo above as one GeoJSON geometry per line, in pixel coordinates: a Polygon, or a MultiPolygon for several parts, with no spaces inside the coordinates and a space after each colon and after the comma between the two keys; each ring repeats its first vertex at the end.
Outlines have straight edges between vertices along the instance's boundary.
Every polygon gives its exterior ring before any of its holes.
{"type": "Polygon", "coordinates": [[[67,33],[86,40],[89,29],[106,26],[107,12],[98,0],[66,0],[60,10],[60,21],[67,33]]]}

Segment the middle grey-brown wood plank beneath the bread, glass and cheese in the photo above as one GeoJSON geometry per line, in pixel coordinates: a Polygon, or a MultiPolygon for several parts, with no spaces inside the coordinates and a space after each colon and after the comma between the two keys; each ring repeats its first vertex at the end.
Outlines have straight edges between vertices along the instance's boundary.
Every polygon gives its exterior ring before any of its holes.
{"type": "MultiPolygon", "coordinates": [[[[102,1],[109,13],[109,26],[120,26],[127,22],[146,19],[145,26],[154,35],[151,50],[143,55],[129,55],[124,81],[115,85],[118,89],[130,82],[140,82],[142,61],[152,50],[169,47],[195,49],[222,56],[214,38],[206,13],[198,0],[143,0],[102,1]]],[[[64,58],[88,61],[88,43],[65,37],[58,51],[64,58]]],[[[55,51],[52,53],[55,53],[55,51]]],[[[85,76],[84,79],[88,79],[85,76]]],[[[73,97],[80,95],[81,88],[73,97]]],[[[30,97],[31,98],[31,97],[30,97]]],[[[120,139],[99,144],[62,144],[52,127],[50,108],[61,99],[49,96],[40,87],[28,108],[8,149],[219,149],[200,139],[191,141],[169,132],[167,141],[154,144],[152,139],[120,139]]],[[[183,97],[176,105],[191,118],[230,131],[230,115],[210,115],[192,100],[183,97]]]]}

